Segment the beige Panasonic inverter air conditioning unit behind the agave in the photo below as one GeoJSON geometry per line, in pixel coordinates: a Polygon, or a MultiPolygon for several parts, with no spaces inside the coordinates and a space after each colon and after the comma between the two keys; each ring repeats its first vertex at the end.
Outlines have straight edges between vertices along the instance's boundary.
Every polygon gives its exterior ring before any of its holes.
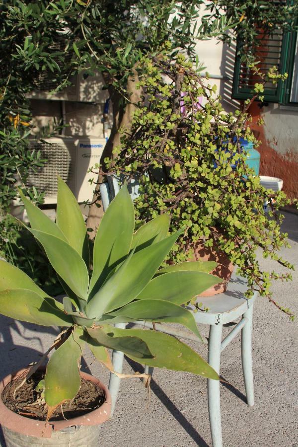
{"type": "Polygon", "coordinates": [[[47,161],[36,172],[30,171],[26,186],[45,191],[45,204],[55,204],[57,175],[60,175],[79,203],[92,200],[94,185],[90,185],[88,180],[96,174],[88,173],[88,169],[99,163],[105,144],[104,138],[95,137],[57,137],[43,142],[31,140],[30,148],[39,150],[41,158],[47,161]]]}

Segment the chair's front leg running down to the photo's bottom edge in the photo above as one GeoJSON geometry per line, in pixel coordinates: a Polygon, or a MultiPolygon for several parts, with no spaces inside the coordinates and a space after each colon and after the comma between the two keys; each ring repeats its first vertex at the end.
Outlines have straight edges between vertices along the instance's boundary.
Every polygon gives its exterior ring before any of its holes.
{"type": "MultiPolygon", "coordinates": [[[[220,373],[222,324],[212,324],[209,331],[208,363],[220,373]]],[[[208,408],[213,447],[223,446],[220,381],[208,379],[208,408]]]]}

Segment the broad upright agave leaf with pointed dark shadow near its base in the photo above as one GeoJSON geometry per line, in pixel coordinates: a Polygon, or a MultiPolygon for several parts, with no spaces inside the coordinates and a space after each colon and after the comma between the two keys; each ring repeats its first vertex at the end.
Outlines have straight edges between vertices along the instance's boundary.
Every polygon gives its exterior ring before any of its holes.
{"type": "Polygon", "coordinates": [[[109,272],[128,255],[134,227],[134,206],[124,185],[104,213],[95,236],[89,296],[98,291],[109,272]]]}

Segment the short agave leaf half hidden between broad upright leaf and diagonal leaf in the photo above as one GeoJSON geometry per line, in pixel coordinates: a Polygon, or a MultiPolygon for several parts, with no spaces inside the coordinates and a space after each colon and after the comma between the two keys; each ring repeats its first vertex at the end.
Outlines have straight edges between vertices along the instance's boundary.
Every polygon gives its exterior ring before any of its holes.
{"type": "Polygon", "coordinates": [[[131,248],[135,248],[135,252],[137,252],[152,243],[164,239],[169,230],[169,224],[170,216],[168,214],[161,214],[147,224],[142,225],[133,235],[131,248]]]}

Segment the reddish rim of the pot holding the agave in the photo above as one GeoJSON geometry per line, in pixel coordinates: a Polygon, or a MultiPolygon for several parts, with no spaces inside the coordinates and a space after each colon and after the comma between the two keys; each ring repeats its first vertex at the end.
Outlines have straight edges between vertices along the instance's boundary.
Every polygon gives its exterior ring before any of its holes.
{"type": "Polygon", "coordinates": [[[0,381],[0,425],[6,427],[14,432],[22,433],[23,435],[35,436],[38,438],[51,438],[53,431],[59,431],[67,427],[72,426],[86,426],[86,425],[98,425],[107,421],[111,414],[112,398],[108,388],[96,377],[91,374],[83,373],[80,371],[80,376],[86,380],[90,380],[96,383],[105,392],[105,401],[99,407],[90,413],[82,416],[77,416],[72,419],[63,421],[49,421],[45,422],[39,419],[31,419],[26,416],[14,413],[6,407],[2,401],[2,391],[4,387],[14,380],[17,376],[29,371],[30,368],[23,368],[17,373],[11,373],[6,375],[0,381]]]}

